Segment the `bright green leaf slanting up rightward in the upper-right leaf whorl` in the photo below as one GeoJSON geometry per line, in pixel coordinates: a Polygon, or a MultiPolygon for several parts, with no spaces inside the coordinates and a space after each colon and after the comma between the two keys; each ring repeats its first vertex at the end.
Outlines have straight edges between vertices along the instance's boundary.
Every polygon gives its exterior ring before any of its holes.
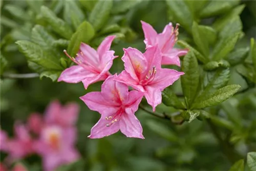
{"type": "Polygon", "coordinates": [[[239,36],[240,34],[237,33],[235,35],[231,35],[227,38],[221,39],[214,48],[214,51],[212,52],[212,59],[218,61],[227,56],[229,52],[233,50],[239,36]]]}

